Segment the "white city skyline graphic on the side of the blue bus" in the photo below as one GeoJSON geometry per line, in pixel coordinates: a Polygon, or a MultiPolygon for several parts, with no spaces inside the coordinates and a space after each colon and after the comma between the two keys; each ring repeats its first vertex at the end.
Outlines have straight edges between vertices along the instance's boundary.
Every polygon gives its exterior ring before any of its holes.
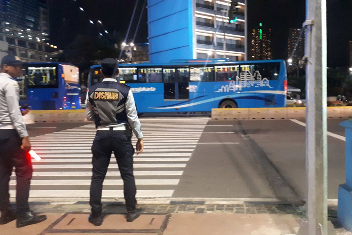
{"type": "Polygon", "coordinates": [[[223,85],[216,92],[230,92],[230,91],[242,91],[242,88],[258,88],[258,87],[270,87],[270,82],[266,78],[262,78],[259,71],[252,73],[245,71],[240,73],[240,76],[236,76],[236,81],[230,81],[228,85],[223,85]]]}

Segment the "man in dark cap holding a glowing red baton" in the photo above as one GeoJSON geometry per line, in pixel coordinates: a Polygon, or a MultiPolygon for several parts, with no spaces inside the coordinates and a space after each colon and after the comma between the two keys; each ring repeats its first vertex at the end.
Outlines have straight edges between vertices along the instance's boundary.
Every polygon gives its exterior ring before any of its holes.
{"type": "Polygon", "coordinates": [[[22,75],[19,57],[7,55],[1,61],[0,73],[0,224],[17,218],[17,227],[36,224],[46,219],[29,210],[28,197],[32,179],[32,163],[28,157],[31,143],[22,118],[29,110],[19,108],[19,87],[15,80],[22,75]],[[12,169],[16,172],[17,215],[10,208],[9,182],[12,169]]]}

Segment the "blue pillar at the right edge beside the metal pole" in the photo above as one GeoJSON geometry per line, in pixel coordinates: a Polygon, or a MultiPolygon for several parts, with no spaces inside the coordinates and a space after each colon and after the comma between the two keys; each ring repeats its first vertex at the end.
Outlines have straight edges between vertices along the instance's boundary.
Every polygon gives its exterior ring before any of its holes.
{"type": "Polygon", "coordinates": [[[339,185],[338,221],[352,231],[352,119],[340,124],[345,127],[346,136],[346,184],[339,185]]]}

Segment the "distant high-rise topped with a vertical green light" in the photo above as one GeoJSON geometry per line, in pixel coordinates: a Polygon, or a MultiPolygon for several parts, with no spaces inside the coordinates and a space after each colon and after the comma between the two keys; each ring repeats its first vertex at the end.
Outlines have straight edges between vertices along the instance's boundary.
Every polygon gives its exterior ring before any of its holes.
{"type": "Polygon", "coordinates": [[[251,60],[272,60],[271,52],[271,29],[263,33],[262,23],[251,30],[251,60]]]}

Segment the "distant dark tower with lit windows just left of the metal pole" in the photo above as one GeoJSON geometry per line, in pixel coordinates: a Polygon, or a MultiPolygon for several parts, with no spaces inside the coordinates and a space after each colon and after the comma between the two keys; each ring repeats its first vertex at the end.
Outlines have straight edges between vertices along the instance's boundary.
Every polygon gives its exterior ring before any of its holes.
{"type": "MultiPolygon", "coordinates": [[[[301,29],[290,28],[290,33],[289,33],[289,37],[287,40],[287,58],[291,57],[291,54],[295,48],[295,45],[296,45],[298,38],[301,35],[301,32],[302,32],[301,29]]],[[[302,37],[298,41],[296,51],[294,52],[294,55],[292,56],[292,63],[293,64],[298,65],[298,62],[304,56],[304,37],[305,37],[305,33],[303,32],[302,37]]]]}

